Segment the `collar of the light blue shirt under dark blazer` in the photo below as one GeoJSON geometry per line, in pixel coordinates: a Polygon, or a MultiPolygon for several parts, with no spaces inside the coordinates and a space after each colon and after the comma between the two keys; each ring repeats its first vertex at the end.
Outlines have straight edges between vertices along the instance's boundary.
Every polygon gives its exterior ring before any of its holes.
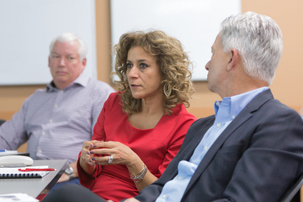
{"type": "Polygon", "coordinates": [[[222,105],[222,108],[225,108],[225,113],[228,113],[229,115],[228,118],[234,119],[252,99],[267,89],[268,86],[265,86],[231,97],[224,97],[222,101],[215,101],[215,116],[217,117],[218,110],[222,105]]]}

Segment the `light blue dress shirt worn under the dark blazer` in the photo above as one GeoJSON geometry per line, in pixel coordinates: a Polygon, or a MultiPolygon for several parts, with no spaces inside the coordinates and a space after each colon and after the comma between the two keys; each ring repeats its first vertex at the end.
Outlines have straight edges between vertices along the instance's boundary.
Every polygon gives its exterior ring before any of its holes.
{"type": "Polygon", "coordinates": [[[203,157],[217,140],[226,127],[245,108],[245,106],[258,94],[267,90],[268,87],[258,88],[232,97],[223,98],[222,101],[215,102],[215,122],[205,133],[200,143],[196,147],[189,161],[180,161],[178,164],[178,174],[173,180],[165,183],[161,194],[156,202],[177,202],[181,198],[195,173],[203,157]]]}

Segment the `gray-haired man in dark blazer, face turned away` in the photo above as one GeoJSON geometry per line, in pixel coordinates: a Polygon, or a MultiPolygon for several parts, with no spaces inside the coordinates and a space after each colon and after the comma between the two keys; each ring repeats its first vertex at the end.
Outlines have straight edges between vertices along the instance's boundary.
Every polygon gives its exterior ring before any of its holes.
{"type": "MultiPolygon", "coordinates": [[[[303,172],[302,118],[268,88],[282,46],[268,16],[226,18],[205,66],[209,90],[222,98],[215,115],[195,121],[162,176],[125,201],[278,201],[303,172]]],[[[66,196],[101,201],[88,191],[66,196]]]]}

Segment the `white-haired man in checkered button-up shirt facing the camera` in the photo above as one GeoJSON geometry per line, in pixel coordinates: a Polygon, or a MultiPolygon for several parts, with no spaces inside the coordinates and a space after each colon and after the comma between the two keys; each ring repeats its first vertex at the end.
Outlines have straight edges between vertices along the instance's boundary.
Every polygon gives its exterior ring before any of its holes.
{"type": "Polygon", "coordinates": [[[16,150],[27,141],[33,159],[68,159],[69,167],[58,182],[79,183],[78,153],[83,142],[91,140],[103,104],[114,92],[82,73],[86,52],[84,41],[73,33],[54,38],[48,58],[53,80],[0,126],[0,149],[16,150]]]}

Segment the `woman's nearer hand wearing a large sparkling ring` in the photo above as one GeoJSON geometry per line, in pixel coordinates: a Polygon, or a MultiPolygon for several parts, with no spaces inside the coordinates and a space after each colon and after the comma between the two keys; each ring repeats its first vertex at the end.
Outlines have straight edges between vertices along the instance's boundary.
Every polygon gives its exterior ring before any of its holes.
{"type": "Polygon", "coordinates": [[[140,157],[131,148],[120,142],[108,141],[94,144],[91,154],[108,154],[112,156],[112,162],[108,163],[109,156],[92,157],[98,165],[125,164],[132,167],[141,164],[140,157]],[[95,148],[95,149],[94,149],[95,148]]]}

